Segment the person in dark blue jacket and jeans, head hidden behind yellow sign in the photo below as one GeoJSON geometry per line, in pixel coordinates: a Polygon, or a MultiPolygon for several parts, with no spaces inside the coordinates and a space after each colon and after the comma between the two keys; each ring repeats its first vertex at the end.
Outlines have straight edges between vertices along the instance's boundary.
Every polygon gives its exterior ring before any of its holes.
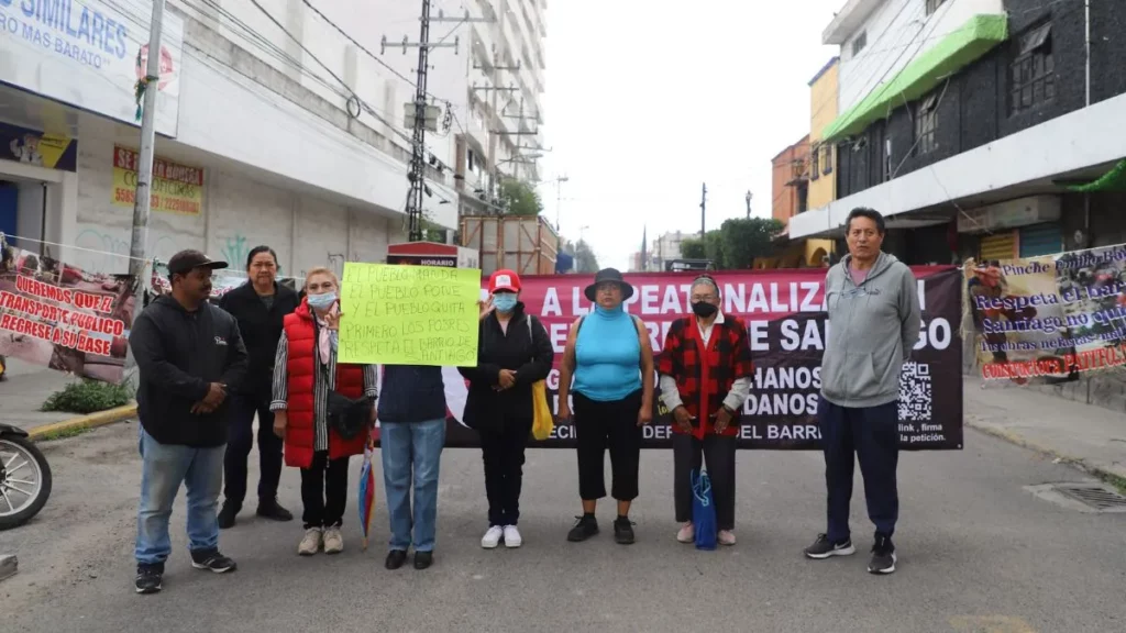
{"type": "Polygon", "coordinates": [[[381,392],[379,448],[391,519],[385,567],[403,567],[406,551],[414,545],[414,569],[427,569],[434,563],[438,466],[446,445],[441,367],[385,365],[381,392]]]}

